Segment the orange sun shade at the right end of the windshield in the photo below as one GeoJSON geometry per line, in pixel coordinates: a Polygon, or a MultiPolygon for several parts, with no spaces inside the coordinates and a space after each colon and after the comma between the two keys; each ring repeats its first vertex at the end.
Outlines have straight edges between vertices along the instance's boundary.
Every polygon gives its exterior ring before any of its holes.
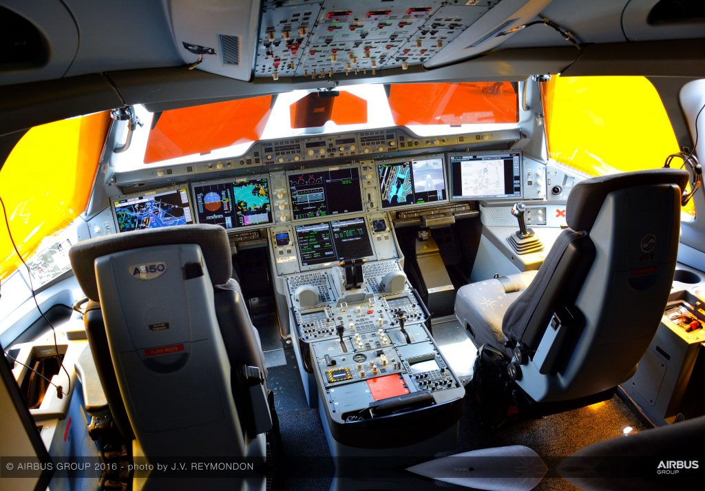
{"type": "Polygon", "coordinates": [[[389,108],[400,126],[519,121],[519,97],[511,82],[393,84],[389,108]]]}

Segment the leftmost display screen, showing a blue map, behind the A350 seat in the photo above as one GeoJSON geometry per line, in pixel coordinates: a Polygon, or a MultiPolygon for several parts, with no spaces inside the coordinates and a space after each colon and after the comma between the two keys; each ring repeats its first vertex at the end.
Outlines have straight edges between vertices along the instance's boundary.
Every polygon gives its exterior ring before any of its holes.
{"type": "Polygon", "coordinates": [[[193,223],[186,188],[123,198],[113,202],[113,209],[120,232],[193,223]]]}

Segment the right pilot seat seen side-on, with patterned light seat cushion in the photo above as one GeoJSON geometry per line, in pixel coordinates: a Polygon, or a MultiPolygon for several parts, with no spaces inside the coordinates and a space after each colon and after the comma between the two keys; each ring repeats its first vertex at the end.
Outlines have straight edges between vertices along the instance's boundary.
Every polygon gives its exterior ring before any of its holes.
{"type": "Polygon", "coordinates": [[[608,399],[635,373],[668,301],[687,178],[658,169],[582,181],[538,272],[458,291],[458,320],[478,348],[503,352],[527,407],[608,399]]]}

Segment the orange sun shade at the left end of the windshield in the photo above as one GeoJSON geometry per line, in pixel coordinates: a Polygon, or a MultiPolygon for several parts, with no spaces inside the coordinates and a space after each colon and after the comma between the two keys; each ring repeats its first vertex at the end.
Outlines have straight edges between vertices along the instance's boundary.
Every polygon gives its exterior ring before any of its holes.
{"type": "Polygon", "coordinates": [[[257,141],[270,112],[271,96],[266,95],[155,114],[145,164],[257,141]]]}

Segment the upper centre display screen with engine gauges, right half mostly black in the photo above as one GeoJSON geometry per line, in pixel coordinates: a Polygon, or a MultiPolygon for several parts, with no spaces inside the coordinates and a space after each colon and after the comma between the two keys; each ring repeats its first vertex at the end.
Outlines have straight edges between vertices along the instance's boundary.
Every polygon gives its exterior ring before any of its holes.
{"type": "Polygon", "coordinates": [[[357,167],[290,174],[288,178],[295,220],[362,211],[357,167]]]}

